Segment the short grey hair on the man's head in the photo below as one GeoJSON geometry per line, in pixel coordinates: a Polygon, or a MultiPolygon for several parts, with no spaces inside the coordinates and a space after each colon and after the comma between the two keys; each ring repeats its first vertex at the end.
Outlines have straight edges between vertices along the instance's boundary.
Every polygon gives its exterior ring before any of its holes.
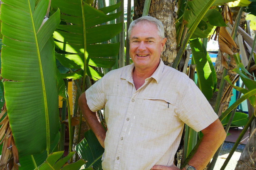
{"type": "Polygon", "coordinates": [[[164,39],[165,38],[165,30],[164,30],[164,25],[162,24],[161,21],[157,20],[154,17],[151,16],[142,16],[134,21],[131,22],[129,29],[128,29],[128,39],[130,39],[130,35],[132,32],[132,28],[135,27],[135,25],[139,22],[150,22],[153,23],[157,26],[158,29],[158,35],[164,39]]]}

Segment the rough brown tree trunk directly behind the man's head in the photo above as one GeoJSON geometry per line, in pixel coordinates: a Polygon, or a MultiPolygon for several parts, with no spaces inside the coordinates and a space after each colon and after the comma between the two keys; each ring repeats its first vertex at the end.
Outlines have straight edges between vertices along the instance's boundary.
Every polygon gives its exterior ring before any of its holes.
{"type": "MultiPolygon", "coordinates": [[[[145,0],[135,2],[135,19],[142,16],[145,0]]],[[[165,65],[171,66],[176,57],[175,1],[151,0],[149,15],[160,20],[165,28],[167,38],[165,50],[161,55],[165,65]]]]}

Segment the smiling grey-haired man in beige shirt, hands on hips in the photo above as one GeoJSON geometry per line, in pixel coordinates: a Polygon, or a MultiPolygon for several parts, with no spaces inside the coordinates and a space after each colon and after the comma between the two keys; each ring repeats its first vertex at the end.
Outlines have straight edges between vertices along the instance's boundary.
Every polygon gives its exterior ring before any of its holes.
{"type": "Polygon", "coordinates": [[[218,116],[187,75],[160,59],[166,42],[162,22],[141,17],[128,34],[133,64],[109,72],[79,98],[105,148],[102,169],[178,169],[173,161],[186,123],[204,134],[186,170],[202,170],[226,136],[218,116]],[[102,108],[107,132],[95,114],[102,108]]]}

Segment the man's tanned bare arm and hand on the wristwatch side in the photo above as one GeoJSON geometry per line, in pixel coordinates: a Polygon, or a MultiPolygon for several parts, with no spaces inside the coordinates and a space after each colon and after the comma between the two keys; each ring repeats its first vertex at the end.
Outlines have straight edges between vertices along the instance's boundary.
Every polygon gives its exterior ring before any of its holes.
{"type": "MultiPolygon", "coordinates": [[[[203,139],[197,148],[195,155],[188,162],[190,166],[195,167],[196,170],[203,170],[209,163],[214,153],[217,151],[219,146],[226,138],[226,132],[217,119],[208,127],[202,130],[203,139]]],[[[178,170],[177,167],[167,167],[155,165],[151,168],[152,170],[178,170]]],[[[182,170],[185,170],[183,168],[182,170]]]]}

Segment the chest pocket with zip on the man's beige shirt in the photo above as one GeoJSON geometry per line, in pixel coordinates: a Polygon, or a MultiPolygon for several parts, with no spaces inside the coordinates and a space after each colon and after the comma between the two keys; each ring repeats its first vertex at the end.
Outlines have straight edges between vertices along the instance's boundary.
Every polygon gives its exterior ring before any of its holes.
{"type": "Polygon", "coordinates": [[[145,131],[166,133],[173,117],[173,104],[163,98],[144,98],[139,126],[145,131]]]}

